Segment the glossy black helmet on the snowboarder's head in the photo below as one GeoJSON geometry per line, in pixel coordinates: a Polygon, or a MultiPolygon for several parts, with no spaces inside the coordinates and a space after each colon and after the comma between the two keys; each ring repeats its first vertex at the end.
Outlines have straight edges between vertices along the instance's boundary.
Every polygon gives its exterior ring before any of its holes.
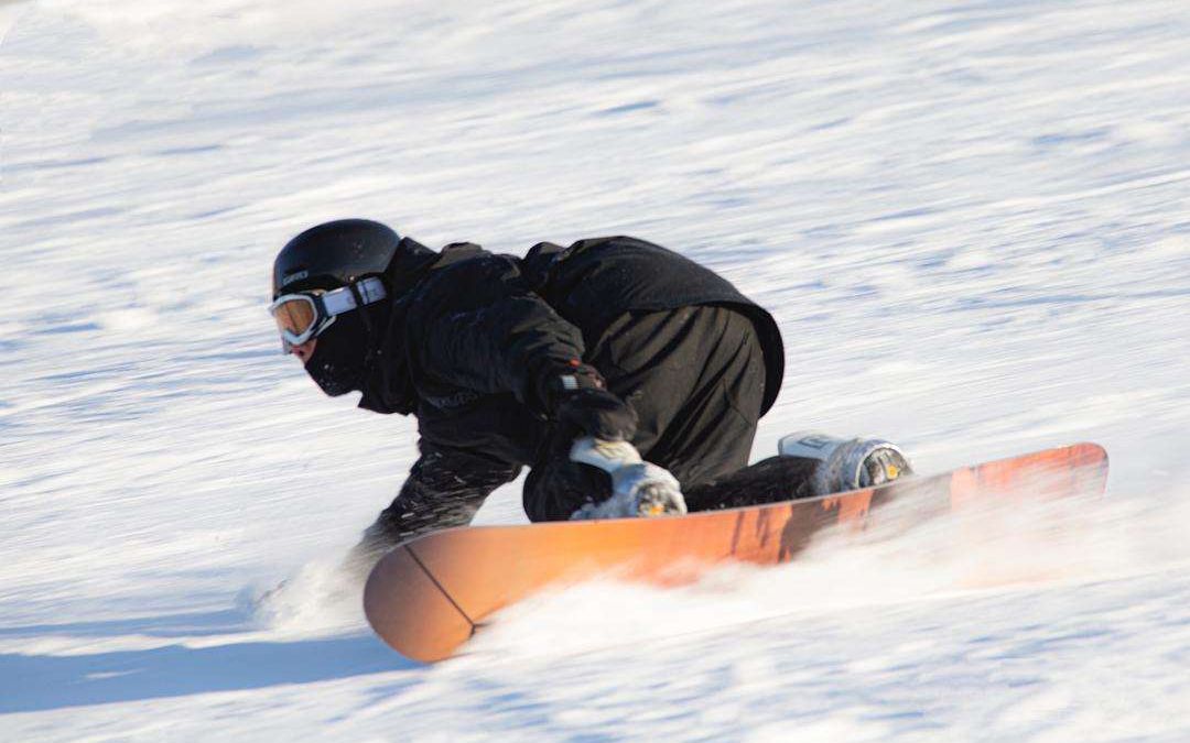
{"type": "Polygon", "coordinates": [[[367,219],[311,227],[286,244],[273,264],[273,298],[309,289],[336,289],[384,272],[401,237],[367,219]]]}

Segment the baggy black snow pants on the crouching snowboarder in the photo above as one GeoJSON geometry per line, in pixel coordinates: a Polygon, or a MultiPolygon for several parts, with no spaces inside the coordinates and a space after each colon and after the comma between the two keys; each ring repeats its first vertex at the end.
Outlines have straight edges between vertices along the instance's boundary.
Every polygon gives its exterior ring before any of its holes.
{"type": "MultiPolygon", "coordinates": [[[[632,443],[674,473],[691,511],[744,504],[714,485],[747,465],[760,417],[765,365],[751,320],[716,306],[630,313],[585,360],[635,409],[640,423],[632,443]]],[[[612,495],[605,472],[570,461],[571,441],[559,432],[531,468],[524,491],[531,521],[566,520],[612,495]]],[[[797,461],[772,466],[796,468],[788,474],[797,479],[804,470],[797,461]]],[[[752,490],[747,503],[794,497],[788,480],[770,497],[752,490]]]]}

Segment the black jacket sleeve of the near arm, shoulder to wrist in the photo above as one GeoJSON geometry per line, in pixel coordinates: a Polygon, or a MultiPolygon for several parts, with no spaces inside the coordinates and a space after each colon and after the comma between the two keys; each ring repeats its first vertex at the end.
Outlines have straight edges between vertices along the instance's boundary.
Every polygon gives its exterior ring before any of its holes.
{"type": "Polygon", "coordinates": [[[506,256],[468,260],[436,281],[419,355],[433,377],[484,393],[512,392],[547,413],[546,380],[582,358],[582,332],[530,288],[506,256]],[[465,296],[459,296],[465,295],[465,296]]]}

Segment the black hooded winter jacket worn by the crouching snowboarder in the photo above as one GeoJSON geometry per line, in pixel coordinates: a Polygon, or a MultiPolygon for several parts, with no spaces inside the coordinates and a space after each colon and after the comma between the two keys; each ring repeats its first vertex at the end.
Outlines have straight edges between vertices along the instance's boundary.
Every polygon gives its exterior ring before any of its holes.
{"type": "Polygon", "coordinates": [[[784,348],[772,316],[709,269],[644,240],[541,243],[520,259],[471,244],[433,253],[406,239],[387,279],[392,311],[361,407],[415,413],[422,454],[381,517],[394,539],[466,523],[491,490],[536,461],[549,435],[543,380],[565,373],[627,313],[735,308],[764,350],[762,413],[781,389],[784,348]],[[434,495],[444,487],[474,506],[431,508],[453,499],[434,495]],[[434,523],[413,506],[438,511],[434,523]],[[452,523],[441,523],[444,510],[452,523]]]}

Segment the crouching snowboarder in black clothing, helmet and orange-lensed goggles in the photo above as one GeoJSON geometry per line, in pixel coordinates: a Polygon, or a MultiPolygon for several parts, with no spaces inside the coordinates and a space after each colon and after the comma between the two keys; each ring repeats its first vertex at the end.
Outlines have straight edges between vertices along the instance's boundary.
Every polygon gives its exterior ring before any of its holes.
{"type": "Polygon", "coordinates": [[[468,524],[522,466],[532,521],[772,502],[908,471],[887,442],[833,440],[823,451],[852,456],[844,481],[806,459],[746,467],[784,373],[777,325],[709,269],[635,238],[516,258],[338,220],[281,250],[273,298],[283,351],[325,393],[418,418],[421,455],[365,531],[367,555],[468,524]]]}

